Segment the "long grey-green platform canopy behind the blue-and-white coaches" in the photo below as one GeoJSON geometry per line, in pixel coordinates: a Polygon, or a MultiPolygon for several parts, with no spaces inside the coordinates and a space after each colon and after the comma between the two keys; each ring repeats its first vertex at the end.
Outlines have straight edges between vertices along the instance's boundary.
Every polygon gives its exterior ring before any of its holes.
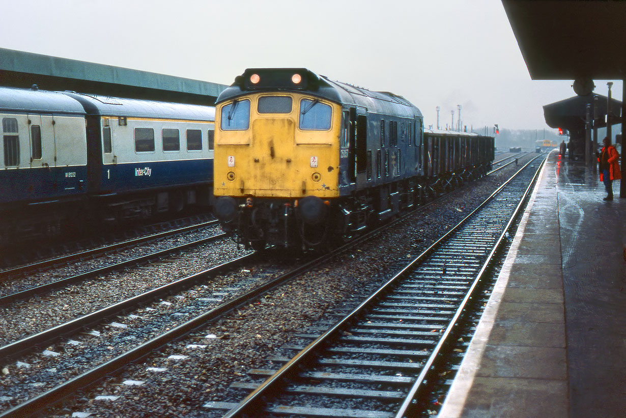
{"type": "Polygon", "coordinates": [[[213,105],[226,85],[0,48],[0,85],[213,105]]]}

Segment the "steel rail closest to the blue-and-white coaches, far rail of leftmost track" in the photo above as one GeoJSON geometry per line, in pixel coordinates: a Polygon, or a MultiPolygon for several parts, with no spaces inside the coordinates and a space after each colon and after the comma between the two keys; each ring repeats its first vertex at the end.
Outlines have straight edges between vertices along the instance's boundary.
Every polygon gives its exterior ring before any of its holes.
{"type": "Polygon", "coordinates": [[[151,234],[151,235],[140,237],[140,238],[127,239],[126,241],[122,241],[120,243],[115,243],[115,244],[111,244],[111,245],[99,247],[99,248],[94,248],[94,249],[88,249],[86,251],[81,251],[80,253],[68,254],[66,256],[51,258],[51,259],[47,259],[44,261],[38,261],[37,263],[31,263],[31,264],[26,264],[24,266],[5,269],[5,270],[0,271],[0,279],[6,276],[14,276],[17,274],[24,274],[28,271],[33,271],[36,269],[47,268],[48,266],[52,266],[56,264],[63,264],[63,263],[68,263],[69,261],[77,260],[77,259],[88,258],[95,254],[106,253],[108,251],[113,251],[115,249],[122,248],[125,246],[132,246],[132,245],[144,243],[146,241],[154,241],[156,239],[166,238],[168,236],[181,234],[181,233],[185,233],[188,231],[193,231],[193,229],[201,229],[203,227],[216,224],[217,222],[218,222],[217,219],[215,219],[213,221],[202,222],[196,225],[190,225],[190,226],[185,226],[185,227],[181,227],[177,229],[172,229],[171,231],[163,231],[162,233],[151,234]]]}

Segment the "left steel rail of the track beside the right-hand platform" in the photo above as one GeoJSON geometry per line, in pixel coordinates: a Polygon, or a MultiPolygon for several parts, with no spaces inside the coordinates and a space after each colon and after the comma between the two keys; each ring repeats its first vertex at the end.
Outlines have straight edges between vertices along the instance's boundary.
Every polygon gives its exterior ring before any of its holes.
{"type": "MultiPolygon", "coordinates": [[[[498,189],[496,189],[496,191],[494,191],[491,196],[485,199],[485,201],[482,202],[478,207],[476,207],[476,209],[474,209],[471,213],[469,213],[468,216],[464,217],[456,226],[450,229],[448,233],[444,234],[435,243],[431,244],[431,246],[425,249],[423,253],[419,254],[419,256],[413,259],[413,261],[411,261],[411,263],[409,263],[404,269],[402,269],[393,278],[384,283],[384,285],[382,285],[378,290],[372,293],[371,296],[362,301],[359,306],[357,306],[356,308],[354,308],[354,310],[344,316],[344,318],[342,318],[335,325],[326,330],[326,332],[322,333],[322,335],[317,337],[313,342],[309,343],[307,347],[302,349],[299,353],[297,353],[297,355],[292,357],[287,363],[280,367],[274,375],[267,378],[261,385],[259,385],[259,387],[257,387],[257,389],[250,392],[250,394],[247,395],[237,406],[228,410],[228,412],[223,415],[223,418],[243,417],[245,416],[246,411],[254,409],[259,410],[260,405],[264,403],[264,400],[266,398],[272,397],[272,394],[277,393],[277,387],[280,387],[285,379],[298,372],[300,365],[304,365],[305,363],[312,361],[315,353],[317,352],[317,350],[319,350],[319,348],[322,347],[322,345],[324,345],[327,341],[333,338],[337,333],[341,332],[341,330],[346,327],[346,325],[352,323],[352,321],[354,321],[357,316],[361,315],[361,312],[364,310],[364,308],[372,305],[374,301],[381,298],[382,295],[385,295],[394,285],[396,285],[397,282],[407,276],[410,271],[413,271],[413,269],[421,264],[424,259],[426,259],[426,257],[434,251],[434,249],[438,248],[444,241],[446,241],[446,239],[448,239],[449,236],[456,233],[461,228],[461,226],[463,226],[466,221],[468,221],[470,217],[473,217],[476,212],[485,207],[497,194],[502,191],[504,187],[506,187],[507,184],[509,184],[516,177],[516,175],[518,175],[523,169],[530,165],[531,162],[533,162],[535,159],[531,160],[523,167],[521,167],[521,169],[518,170],[515,175],[513,175],[510,179],[506,180],[505,183],[500,185],[500,187],[498,187],[498,189]]],[[[504,236],[505,233],[506,231],[503,231],[502,236],[504,236]]],[[[484,268],[485,267],[483,266],[483,269],[484,268]]],[[[472,290],[474,287],[475,286],[472,286],[472,290]]],[[[448,328],[451,329],[452,326],[449,326],[448,328]]],[[[446,337],[447,335],[449,335],[449,332],[446,333],[446,337]]],[[[439,350],[441,345],[443,345],[443,343],[440,343],[436,346],[437,350],[439,350]]],[[[431,357],[434,358],[434,356],[431,357]]],[[[423,370],[426,369],[426,367],[423,368],[423,370]]]]}

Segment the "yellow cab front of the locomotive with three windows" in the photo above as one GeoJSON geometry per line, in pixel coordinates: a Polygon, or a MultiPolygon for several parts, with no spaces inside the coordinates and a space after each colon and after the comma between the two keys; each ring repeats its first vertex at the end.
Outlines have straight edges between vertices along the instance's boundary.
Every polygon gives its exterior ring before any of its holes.
{"type": "Polygon", "coordinates": [[[339,196],[341,107],[300,93],[217,106],[215,196],[339,196]]]}

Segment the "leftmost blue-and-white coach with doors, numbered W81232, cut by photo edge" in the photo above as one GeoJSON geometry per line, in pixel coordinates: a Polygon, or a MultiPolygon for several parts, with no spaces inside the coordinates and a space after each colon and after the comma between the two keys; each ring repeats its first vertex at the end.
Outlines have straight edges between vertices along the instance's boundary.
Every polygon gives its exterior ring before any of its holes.
{"type": "Polygon", "coordinates": [[[86,199],[85,109],[62,93],[0,87],[0,118],[0,246],[58,233],[86,199]]]}

